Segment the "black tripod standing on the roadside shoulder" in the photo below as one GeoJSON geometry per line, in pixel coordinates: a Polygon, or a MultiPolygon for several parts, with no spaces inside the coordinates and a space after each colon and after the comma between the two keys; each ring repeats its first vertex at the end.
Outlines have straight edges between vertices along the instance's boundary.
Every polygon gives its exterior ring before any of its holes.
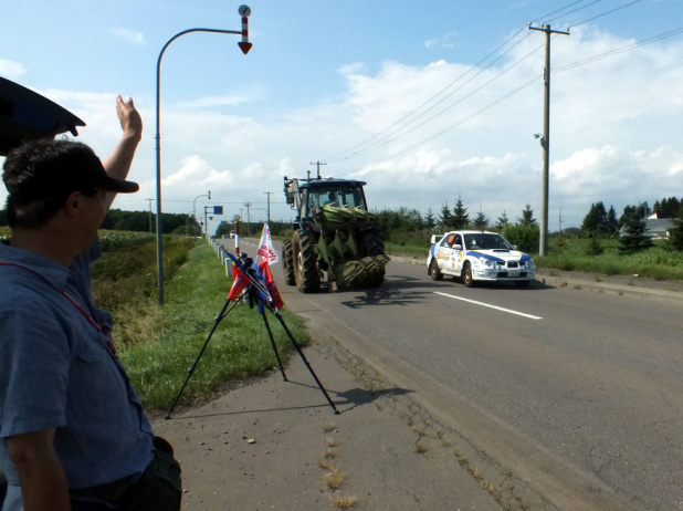
{"type": "Polygon", "coordinates": [[[337,407],[335,406],[333,400],[329,398],[329,395],[327,394],[327,390],[325,390],[325,387],[323,387],[323,384],[321,383],[321,380],[318,379],[317,375],[315,374],[315,371],[313,371],[313,367],[308,363],[308,359],[304,355],[304,352],[302,352],[302,348],[298,345],[298,343],[296,342],[296,340],[294,338],[294,335],[292,335],[292,332],[290,331],[290,328],[287,328],[287,325],[285,324],[284,319],[282,317],[282,313],[273,304],[273,300],[272,300],[271,294],[270,294],[270,292],[267,290],[267,286],[265,285],[265,283],[263,282],[261,275],[256,272],[256,270],[254,270],[252,268],[252,264],[253,264],[252,260],[250,258],[248,258],[246,254],[240,254],[240,260],[238,260],[232,254],[230,254],[228,252],[225,252],[225,253],[228,254],[228,257],[230,258],[232,263],[243,273],[243,275],[245,275],[249,279],[249,284],[246,285],[246,289],[245,289],[244,293],[242,293],[240,295],[240,298],[232,303],[232,305],[230,305],[230,303],[231,303],[230,298],[228,298],[228,300],[225,300],[225,303],[223,304],[223,309],[216,316],[216,321],[213,322],[213,326],[211,328],[211,332],[209,332],[209,335],[207,336],[207,340],[204,341],[203,346],[199,351],[199,354],[197,355],[197,358],[195,359],[195,363],[189,368],[188,376],[187,376],[185,383],[182,384],[182,386],[180,387],[180,390],[178,392],[178,395],[174,399],[174,403],[172,403],[171,407],[169,408],[168,414],[166,415],[166,419],[170,418],[170,416],[171,416],[171,414],[174,411],[174,408],[178,404],[178,400],[180,399],[180,396],[181,396],[182,392],[185,390],[185,387],[187,386],[188,382],[192,377],[192,374],[195,373],[195,369],[196,369],[197,365],[199,364],[199,359],[201,358],[201,355],[203,355],[204,350],[207,348],[207,346],[209,345],[209,341],[211,341],[211,337],[213,336],[213,333],[218,328],[219,323],[242,300],[248,300],[248,303],[249,303],[250,307],[252,307],[252,309],[253,309],[254,304],[258,305],[259,313],[263,317],[263,323],[265,325],[265,330],[266,330],[269,338],[271,341],[271,346],[273,347],[273,352],[275,352],[275,358],[277,359],[277,365],[280,367],[280,372],[282,373],[283,379],[285,382],[287,382],[287,376],[286,376],[286,374],[284,372],[283,366],[282,366],[282,361],[280,359],[280,354],[277,353],[277,347],[275,345],[275,338],[273,337],[273,332],[271,331],[271,326],[270,326],[270,324],[267,322],[267,316],[265,315],[265,310],[266,309],[269,311],[271,311],[271,313],[277,319],[277,321],[282,325],[283,330],[287,334],[287,337],[290,337],[290,341],[292,342],[292,345],[296,350],[296,353],[298,353],[298,355],[301,356],[302,361],[304,362],[304,364],[308,368],[308,372],[313,376],[313,379],[315,379],[315,383],[317,384],[317,386],[321,389],[321,392],[325,395],[325,398],[327,399],[327,403],[329,403],[329,406],[332,406],[332,409],[335,410],[335,414],[339,414],[339,410],[337,410],[337,407]]]}

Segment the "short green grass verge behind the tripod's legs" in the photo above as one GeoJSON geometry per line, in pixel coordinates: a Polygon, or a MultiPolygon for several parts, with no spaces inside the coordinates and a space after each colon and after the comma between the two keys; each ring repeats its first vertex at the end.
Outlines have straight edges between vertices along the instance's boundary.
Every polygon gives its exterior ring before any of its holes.
{"type": "MultiPolygon", "coordinates": [[[[138,254],[147,250],[144,246],[136,247],[138,254]]],[[[130,254],[125,248],[117,253],[116,259],[138,261],[137,254],[130,254]]],[[[137,295],[132,303],[124,301],[112,309],[116,321],[115,341],[120,338],[120,332],[125,332],[125,342],[117,342],[119,357],[149,408],[164,409],[170,405],[211,332],[232,284],[232,279],[225,277],[220,260],[206,242],[198,242],[186,254],[187,262],[169,281],[165,280],[164,306],[157,305],[153,293],[137,295]]],[[[175,257],[180,258],[179,254],[175,257]]],[[[149,254],[143,259],[148,260],[149,254]]],[[[156,260],[153,258],[153,261],[156,260]]],[[[147,270],[141,268],[140,288],[145,288],[148,280],[147,270]]],[[[99,285],[101,281],[102,274],[94,285],[99,285]]],[[[116,288],[117,282],[107,285],[116,288]]],[[[282,356],[290,351],[292,343],[277,319],[266,314],[282,356]]],[[[283,311],[283,316],[297,343],[307,344],[301,323],[286,311],[283,311]]],[[[203,401],[229,382],[263,373],[276,364],[261,314],[248,305],[237,305],[219,323],[180,404],[203,401]]]]}

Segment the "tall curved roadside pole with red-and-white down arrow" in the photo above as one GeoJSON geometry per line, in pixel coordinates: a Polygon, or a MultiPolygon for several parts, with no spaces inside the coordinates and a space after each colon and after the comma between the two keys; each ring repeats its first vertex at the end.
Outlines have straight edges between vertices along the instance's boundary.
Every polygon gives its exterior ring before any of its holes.
{"type": "Polygon", "coordinates": [[[238,9],[239,14],[242,17],[242,30],[218,30],[218,29],[189,29],[183,30],[182,32],[178,32],[171,39],[169,39],[161,52],[159,53],[159,59],[157,60],[157,133],[155,139],[157,142],[156,154],[157,154],[157,278],[158,278],[158,301],[159,305],[164,305],[164,257],[162,257],[162,230],[161,230],[161,135],[160,135],[160,96],[161,96],[161,59],[164,58],[164,53],[166,49],[176,39],[181,35],[192,33],[192,32],[210,32],[210,33],[228,33],[228,34],[237,34],[242,35],[242,42],[239,42],[238,45],[242,50],[242,53],[246,54],[249,50],[251,50],[251,43],[249,42],[249,30],[248,30],[248,18],[251,14],[251,9],[246,6],[240,6],[238,9]]]}

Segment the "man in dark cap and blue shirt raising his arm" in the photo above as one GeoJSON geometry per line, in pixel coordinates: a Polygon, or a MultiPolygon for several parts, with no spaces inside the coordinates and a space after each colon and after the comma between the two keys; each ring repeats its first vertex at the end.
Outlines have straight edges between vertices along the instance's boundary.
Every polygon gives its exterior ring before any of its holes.
{"type": "Polygon", "coordinates": [[[9,242],[0,243],[0,465],[3,511],[177,510],[180,469],[154,437],[116,356],[111,315],[93,303],[90,265],[141,137],[117,97],[123,137],[103,163],[75,142],[10,153],[9,242]],[[95,240],[95,242],[93,242],[95,240]]]}

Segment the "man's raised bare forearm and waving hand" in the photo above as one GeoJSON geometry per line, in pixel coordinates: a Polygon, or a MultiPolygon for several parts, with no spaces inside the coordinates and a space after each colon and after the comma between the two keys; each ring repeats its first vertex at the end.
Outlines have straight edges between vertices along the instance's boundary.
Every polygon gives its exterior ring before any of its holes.
{"type": "MultiPolygon", "coordinates": [[[[123,129],[122,139],[118,142],[112,154],[104,160],[103,165],[107,174],[117,179],[126,179],[137,145],[143,138],[143,118],[133,100],[124,101],[120,95],[116,96],[116,114],[123,129]]],[[[116,194],[107,194],[108,206],[112,206],[116,194]]]]}

